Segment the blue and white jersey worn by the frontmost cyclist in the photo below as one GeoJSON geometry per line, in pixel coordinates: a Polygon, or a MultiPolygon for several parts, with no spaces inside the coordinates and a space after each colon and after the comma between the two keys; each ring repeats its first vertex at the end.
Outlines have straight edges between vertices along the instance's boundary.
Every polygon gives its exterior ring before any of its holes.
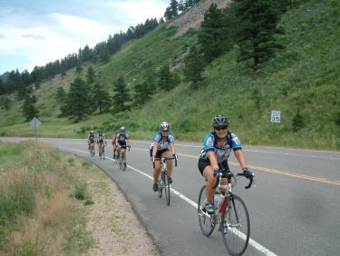
{"type": "Polygon", "coordinates": [[[228,160],[231,149],[233,151],[241,150],[242,146],[238,140],[238,136],[235,133],[228,132],[227,138],[223,143],[223,146],[219,146],[218,135],[214,133],[208,133],[204,139],[203,148],[200,151],[199,158],[207,160],[207,153],[209,151],[214,151],[216,153],[216,158],[218,162],[225,162],[228,160]]]}

